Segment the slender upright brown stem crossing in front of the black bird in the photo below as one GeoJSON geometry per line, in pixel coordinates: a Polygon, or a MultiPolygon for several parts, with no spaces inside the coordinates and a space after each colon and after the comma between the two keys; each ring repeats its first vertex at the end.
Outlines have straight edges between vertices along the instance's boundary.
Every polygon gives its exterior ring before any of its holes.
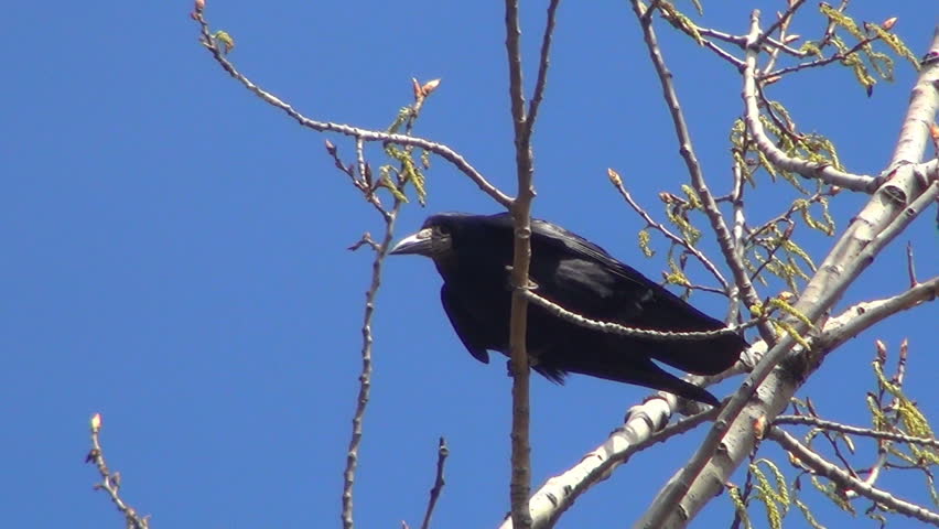
{"type": "MultiPolygon", "coordinates": [[[[512,376],[511,386],[511,479],[509,500],[511,519],[520,529],[531,527],[528,496],[531,492],[531,449],[529,440],[530,399],[529,361],[526,350],[528,327],[528,301],[522,295],[528,287],[528,270],[531,263],[531,184],[533,161],[531,158],[531,127],[525,114],[525,85],[521,68],[521,26],[519,25],[518,0],[506,0],[506,54],[509,69],[509,107],[515,131],[515,161],[518,193],[508,208],[515,226],[511,270],[511,316],[509,319],[509,353],[512,376]]],[[[546,66],[547,68],[547,66],[546,66]]]]}

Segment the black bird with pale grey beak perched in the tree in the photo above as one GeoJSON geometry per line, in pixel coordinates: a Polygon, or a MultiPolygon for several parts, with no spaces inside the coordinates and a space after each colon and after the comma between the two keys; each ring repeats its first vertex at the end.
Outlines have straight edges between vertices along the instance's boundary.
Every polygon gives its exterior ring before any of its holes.
{"type": "MultiPolygon", "coordinates": [[[[714,331],[724,324],[617,261],[603,248],[544,220],[531,222],[535,292],[592,320],[657,331],[714,331]]],[[[512,220],[501,213],[443,213],[391,253],[430,257],[443,278],[443,310],[463,345],[488,364],[487,350],[509,354],[512,220]]],[[[730,368],[747,344],[736,334],[709,339],[650,339],[594,331],[529,304],[527,350],[536,371],[561,384],[568,373],[666,390],[716,406],[704,389],[652,359],[698,375],[730,368]]]]}

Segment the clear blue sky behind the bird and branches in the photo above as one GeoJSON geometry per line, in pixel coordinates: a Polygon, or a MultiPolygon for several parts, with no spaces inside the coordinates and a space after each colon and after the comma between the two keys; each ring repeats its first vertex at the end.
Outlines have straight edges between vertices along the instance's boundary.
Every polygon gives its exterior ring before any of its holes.
{"type": "MultiPolygon", "coordinates": [[[[525,6],[529,66],[541,3],[525,6]]],[[[708,23],[744,32],[745,10],[705,7],[708,23]]],[[[410,102],[411,76],[441,77],[419,133],[460,150],[514,192],[500,9],[209,0],[207,17],[234,35],[231,58],[246,74],[311,117],[384,128],[410,102]]],[[[346,247],[381,224],[332,166],[325,137],[262,104],[211,60],[190,10],[186,1],[4,8],[3,527],[121,527],[83,463],[95,412],[104,414],[106,454],[123,475],[126,499],[152,514],[156,528],[338,523],[371,262],[367,251],[346,247]]],[[[875,21],[899,15],[896,31],[917,55],[937,19],[929,0],[859,2],[856,12],[875,21]]],[[[737,75],[662,24],[659,31],[706,176],[726,190],[737,75]]],[[[891,156],[913,78],[899,64],[897,82],[868,98],[850,72],[832,67],[773,95],[789,102],[803,130],[834,139],[851,170],[875,173],[891,156]]],[[[617,169],[659,218],[657,193],[676,191],[686,174],[626,2],[565,2],[547,97],[536,131],[536,214],[658,278],[663,252],[641,257],[641,224],[605,174],[617,169]]],[[[369,155],[381,163],[379,149],[369,155]]],[[[754,218],[785,207],[785,190],[762,181],[752,194],[754,218]]],[[[429,191],[425,209],[404,209],[401,235],[432,212],[497,210],[440,160],[429,191]]],[[[833,214],[843,229],[864,197],[839,198],[833,214]]],[[[902,247],[910,239],[920,277],[939,272],[930,210],[840,306],[904,289],[902,247]]],[[[803,240],[818,259],[832,244],[803,240]]],[[[430,261],[387,263],[356,487],[361,527],[419,525],[439,435],[452,455],[435,527],[492,527],[508,508],[509,379],[500,361],[483,366],[466,354],[439,306],[439,285],[430,261]]],[[[716,296],[694,302],[723,314],[716,296]]],[[[920,307],[846,344],[800,395],[829,417],[868,424],[863,395],[873,387],[873,339],[895,354],[908,336],[909,395],[939,418],[937,312],[936,304],[920,307]]],[[[564,388],[536,380],[532,393],[538,485],[600,443],[646,391],[573,378],[564,388]]],[[[561,527],[628,525],[703,434],[637,456],[561,527]]],[[[918,476],[884,483],[929,503],[918,476]]],[[[843,527],[842,515],[820,508],[822,522],[843,527]]],[[[719,499],[700,526],[727,520],[728,504],[719,499]]],[[[801,527],[798,515],[792,523],[801,527]]]]}

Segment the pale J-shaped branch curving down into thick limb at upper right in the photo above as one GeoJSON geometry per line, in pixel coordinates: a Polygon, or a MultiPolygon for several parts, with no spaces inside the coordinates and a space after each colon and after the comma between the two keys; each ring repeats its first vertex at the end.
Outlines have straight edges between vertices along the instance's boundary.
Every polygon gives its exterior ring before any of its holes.
{"type": "Polygon", "coordinates": [[[776,147],[776,143],[766,136],[763,128],[763,122],[759,120],[759,102],[757,89],[757,66],[756,60],[759,53],[759,31],[755,32],[748,40],[746,51],[746,67],[743,69],[743,100],[744,100],[744,120],[747,130],[753,137],[757,149],[762,152],[773,165],[784,170],[798,173],[806,179],[820,180],[827,184],[838,185],[851,191],[863,193],[873,193],[883,183],[883,179],[860,176],[856,174],[846,173],[835,169],[830,163],[811,162],[786,154],[781,149],[776,147]]]}

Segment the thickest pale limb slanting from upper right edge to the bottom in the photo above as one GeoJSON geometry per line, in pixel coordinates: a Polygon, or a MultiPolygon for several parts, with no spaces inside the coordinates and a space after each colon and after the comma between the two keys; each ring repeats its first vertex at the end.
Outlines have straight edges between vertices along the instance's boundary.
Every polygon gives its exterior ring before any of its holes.
{"type": "MultiPolygon", "coordinates": [[[[758,34],[759,12],[754,11],[748,34],[751,42],[758,34]]],[[[930,48],[939,48],[939,28],[930,48]]],[[[753,56],[752,48],[748,50],[753,56]]],[[[927,128],[922,123],[931,122],[939,104],[939,93],[933,87],[937,82],[939,63],[924,65],[913,89],[900,139],[891,163],[895,168],[893,176],[853,218],[844,235],[818,267],[795,306],[809,321],[818,321],[893,238],[876,239],[877,234],[893,231],[896,235],[911,219],[899,213],[906,205],[906,197],[918,196],[925,187],[922,176],[917,171],[930,164],[917,166],[910,160],[918,160],[925,147],[927,128]],[[922,134],[922,138],[917,134],[922,134]],[[892,223],[894,227],[888,226],[892,223]]],[[[805,333],[806,326],[795,322],[794,331],[805,333]]],[[[710,498],[722,490],[722,484],[754,449],[753,421],[779,414],[805,380],[807,374],[794,377],[794,374],[787,373],[787,368],[777,367],[787,356],[800,357],[802,348],[790,350],[794,345],[795,339],[787,334],[767,352],[749,378],[724,406],[698,452],[659,493],[640,521],[640,527],[684,526],[710,498]],[[719,455],[719,446],[720,457],[715,457],[719,455]]],[[[822,360],[812,364],[813,369],[822,360]]]]}

